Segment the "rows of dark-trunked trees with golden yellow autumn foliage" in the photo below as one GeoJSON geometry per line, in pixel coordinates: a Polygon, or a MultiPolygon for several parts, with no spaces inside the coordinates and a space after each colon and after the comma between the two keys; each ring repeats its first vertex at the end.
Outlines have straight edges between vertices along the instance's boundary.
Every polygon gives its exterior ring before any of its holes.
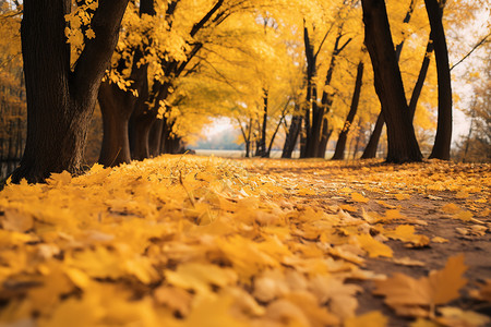
{"type": "Polygon", "coordinates": [[[479,64],[466,73],[471,125],[456,155],[490,160],[490,26],[472,39],[458,34],[486,8],[1,0],[0,174],[17,160],[13,182],[83,171],[96,108],[103,131],[92,136],[101,138],[98,161],[108,167],[179,153],[217,117],[236,123],[247,156],[268,157],[282,144],[284,158],[295,148],[324,158],[331,142],[333,159],[349,149],[373,158],[382,146],[387,162],[448,160],[458,98],[451,71],[468,58],[479,64]]]}

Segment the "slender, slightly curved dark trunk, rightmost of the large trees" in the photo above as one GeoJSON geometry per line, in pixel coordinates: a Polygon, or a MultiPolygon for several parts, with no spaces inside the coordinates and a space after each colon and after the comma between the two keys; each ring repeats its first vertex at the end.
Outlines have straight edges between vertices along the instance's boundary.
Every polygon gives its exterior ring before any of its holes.
{"type": "Polygon", "coordinates": [[[452,143],[452,78],[448,65],[448,49],[442,24],[443,10],[436,0],[424,0],[434,46],[439,81],[439,118],[433,150],[430,158],[450,160],[452,143]]]}

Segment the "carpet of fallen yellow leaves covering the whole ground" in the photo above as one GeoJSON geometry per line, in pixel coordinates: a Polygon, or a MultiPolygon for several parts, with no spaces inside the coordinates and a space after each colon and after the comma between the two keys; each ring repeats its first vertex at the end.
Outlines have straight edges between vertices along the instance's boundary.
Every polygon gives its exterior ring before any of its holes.
{"type": "Polygon", "coordinates": [[[164,156],[0,192],[0,326],[489,326],[491,166],[164,156]]]}

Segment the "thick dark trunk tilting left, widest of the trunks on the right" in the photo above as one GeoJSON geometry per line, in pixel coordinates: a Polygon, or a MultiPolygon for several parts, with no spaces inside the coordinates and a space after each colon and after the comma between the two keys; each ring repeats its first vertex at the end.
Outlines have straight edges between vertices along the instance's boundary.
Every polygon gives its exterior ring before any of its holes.
{"type": "Polygon", "coordinates": [[[387,124],[387,162],[420,161],[421,152],[404,93],[383,0],[362,0],[366,45],[372,60],[375,90],[387,124]]]}

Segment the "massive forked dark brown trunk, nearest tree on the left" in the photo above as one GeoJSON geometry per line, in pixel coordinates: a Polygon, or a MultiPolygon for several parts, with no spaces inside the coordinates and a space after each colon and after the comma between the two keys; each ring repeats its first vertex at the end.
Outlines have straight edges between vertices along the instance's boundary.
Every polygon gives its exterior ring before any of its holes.
{"type": "Polygon", "coordinates": [[[41,182],[51,172],[81,172],[100,80],[118,40],[128,0],[101,1],[73,72],[65,41],[70,0],[25,0],[21,24],[27,95],[27,140],[12,181],[41,182]]]}

